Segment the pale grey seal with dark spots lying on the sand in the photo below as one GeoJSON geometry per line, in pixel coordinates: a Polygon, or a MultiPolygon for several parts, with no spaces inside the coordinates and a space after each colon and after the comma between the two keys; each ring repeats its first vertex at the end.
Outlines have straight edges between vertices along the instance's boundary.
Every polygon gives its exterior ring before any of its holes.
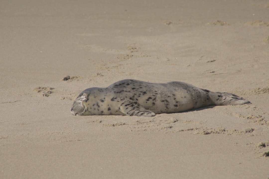
{"type": "Polygon", "coordinates": [[[84,90],[74,101],[73,115],[155,116],[210,105],[247,104],[232,93],[211,92],[183,82],[148,83],[125,79],[106,88],[84,90]]]}

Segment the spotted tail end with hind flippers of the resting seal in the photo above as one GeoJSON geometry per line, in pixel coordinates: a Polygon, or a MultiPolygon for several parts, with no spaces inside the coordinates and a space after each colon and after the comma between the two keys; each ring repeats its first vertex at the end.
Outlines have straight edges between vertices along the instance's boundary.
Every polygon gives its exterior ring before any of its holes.
{"type": "Polygon", "coordinates": [[[239,105],[239,104],[248,104],[250,101],[245,100],[239,96],[236,96],[232,93],[226,92],[211,92],[208,93],[214,105],[239,105]]]}

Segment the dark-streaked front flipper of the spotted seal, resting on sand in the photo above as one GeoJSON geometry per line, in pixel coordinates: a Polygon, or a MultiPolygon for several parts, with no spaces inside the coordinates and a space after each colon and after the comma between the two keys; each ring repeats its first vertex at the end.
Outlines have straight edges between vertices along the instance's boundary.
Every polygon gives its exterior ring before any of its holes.
{"type": "Polygon", "coordinates": [[[133,101],[125,101],[119,106],[120,111],[127,116],[155,116],[154,112],[148,111],[143,106],[133,101]]]}

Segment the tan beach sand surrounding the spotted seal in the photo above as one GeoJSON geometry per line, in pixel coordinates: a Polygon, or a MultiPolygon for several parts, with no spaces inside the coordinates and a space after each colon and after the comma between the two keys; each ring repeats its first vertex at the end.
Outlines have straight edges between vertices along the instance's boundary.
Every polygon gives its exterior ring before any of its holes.
{"type": "Polygon", "coordinates": [[[0,37],[0,178],[269,177],[267,0],[1,1],[0,37]],[[252,103],[70,114],[82,90],[122,79],[252,103]]]}

